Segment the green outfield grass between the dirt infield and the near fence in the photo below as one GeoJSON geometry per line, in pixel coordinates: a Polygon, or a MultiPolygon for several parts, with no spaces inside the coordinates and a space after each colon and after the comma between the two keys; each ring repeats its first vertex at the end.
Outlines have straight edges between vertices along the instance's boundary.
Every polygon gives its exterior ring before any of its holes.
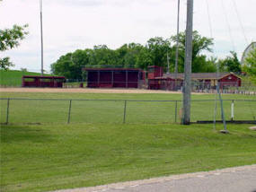
{"type": "MultiPolygon", "coordinates": [[[[254,96],[255,97],[255,96],[254,96]]],[[[252,95],[223,95],[225,118],[231,118],[230,100],[255,100],[252,95]]],[[[1,98],[57,99],[57,100],[10,100],[10,123],[66,123],[69,100],[72,101],[70,122],[73,123],[122,123],[124,100],[127,102],[126,123],[173,123],[175,102],[134,100],[182,100],[181,94],[104,94],[104,93],[41,93],[1,92],[1,98]],[[66,99],[66,100],[62,100],[66,99]],[[81,100],[82,99],[82,100],[81,100]],[[85,99],[85,100],[84,100],[85,99]],[[105,101],[112,100],[112,101],[105,101]]],[[[215,95],[192,95],[191,120],[212,120],[214,118],[215,95]]],[[[177,102],[177,122],[180,122],[181,102],[177,102]]],[[[0,122],[6,121],[7,100],[0,100],[0,122]]],[[[217,119],[221,119],[220,105],[217,119]]],[[[256,117],[256,101],[235,101],[234,119],[253,120],[256,117]]]]}

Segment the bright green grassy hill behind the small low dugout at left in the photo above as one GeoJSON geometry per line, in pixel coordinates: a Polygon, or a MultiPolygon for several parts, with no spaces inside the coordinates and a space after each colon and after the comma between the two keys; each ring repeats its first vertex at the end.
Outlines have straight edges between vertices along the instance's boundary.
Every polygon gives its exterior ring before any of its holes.
{"type": "MultiPolygon", "coordinates": [[[[24,71],[18,71],[18,70],[8,70],[8,71],[0,70],[0,87],[22,86],[23,75],[40,75],[40,73],[24,72],[24,71]]],[[[51,75],[51,74],[45,74],[45,75],[51,75]]]]}

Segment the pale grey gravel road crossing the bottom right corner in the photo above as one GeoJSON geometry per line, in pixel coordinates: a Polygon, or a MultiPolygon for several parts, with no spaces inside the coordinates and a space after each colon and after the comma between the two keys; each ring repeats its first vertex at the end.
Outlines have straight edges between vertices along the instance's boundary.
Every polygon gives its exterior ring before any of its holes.
{"type": "Polygon", "coordinates": [[[56,192],[256,192],[256,164],[56,192]]]}

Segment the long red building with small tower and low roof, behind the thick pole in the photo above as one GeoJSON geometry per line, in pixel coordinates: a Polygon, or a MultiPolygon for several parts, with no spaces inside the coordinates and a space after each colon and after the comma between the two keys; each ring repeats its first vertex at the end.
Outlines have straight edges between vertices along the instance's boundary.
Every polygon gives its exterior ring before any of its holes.
{"type": "MultiPolygon", "coordinates": [[[[175,74],[163,74],[160,66],[150,66],[148,71],[148,89],[154,90],[173,90],[183,85],[184,74],[177,74],[175,83],[175,74]]],[[[219,83],[220,89],[226,87],[240,87],[242,80],[234,73],[193,73],[191,80],[194,86],[199,89],[211,89],[219,83]]]]}

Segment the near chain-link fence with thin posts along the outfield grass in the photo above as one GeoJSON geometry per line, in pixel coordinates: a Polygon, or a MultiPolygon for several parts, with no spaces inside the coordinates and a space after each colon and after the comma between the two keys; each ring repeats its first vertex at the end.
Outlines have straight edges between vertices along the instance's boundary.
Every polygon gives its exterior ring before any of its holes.
{"type": "MultiPolygon", "coordinates": [[[[255,121],[256,100],[223,100],[225,120],[255,121]]],[[[221,120],[219,100],[191,100],[191,121],[221,120]],[[216,105],[217,103],[217,105],[216,105]]],[[[180,123],[181,100],[0,99],[1,124],[180,123]]]]}

